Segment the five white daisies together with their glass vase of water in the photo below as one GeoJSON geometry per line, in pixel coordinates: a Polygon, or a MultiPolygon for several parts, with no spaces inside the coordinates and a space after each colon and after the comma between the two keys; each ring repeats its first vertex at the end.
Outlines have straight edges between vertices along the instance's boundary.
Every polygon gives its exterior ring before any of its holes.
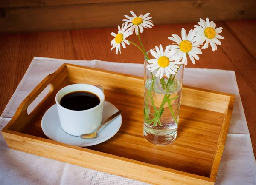
{"type": "Polygon", "coordinates": [[[126,45],[132,44],[144,54],[144,136],[155,145],[167,145],[177,137],[183,71],[188,57],[195,64],[195,60],[199,60],[198,55],[202,54],[201,49],[208,48],[210,44],[212,51],[217,50],[217,45],[221,45],[219,39],[224,39],[219,35],[222,27],[216,28],[216,24],[208,18],[200,19],[188,34],[182,28],[181,37],[177,34],[168,37],[174,43],[146,51],[140,34],[144,28],[154,26],[152,17],[148,17],[149,13],[137,16],[132,11],[131,15],[125,15],[126,19],[122,20],[125,23],[118,26],[117,34],[111,33],[115,37],[111,41],[111,51],[115,48],[116,54],[120,54],[121,45],[126,48],[126,45]],[[139,44],[127,40],[134,32],[139,44]]]}

